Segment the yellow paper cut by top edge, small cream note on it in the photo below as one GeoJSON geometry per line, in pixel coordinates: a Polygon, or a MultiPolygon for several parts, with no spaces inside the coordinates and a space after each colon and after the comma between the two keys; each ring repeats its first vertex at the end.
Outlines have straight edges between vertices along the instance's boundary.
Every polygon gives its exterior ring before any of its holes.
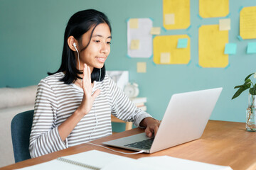
{"type": "Polygon", "coordinates": [[[190,0],[163,0],[163,23],[166,30],[186,29],[190,23],[190,0]]]}

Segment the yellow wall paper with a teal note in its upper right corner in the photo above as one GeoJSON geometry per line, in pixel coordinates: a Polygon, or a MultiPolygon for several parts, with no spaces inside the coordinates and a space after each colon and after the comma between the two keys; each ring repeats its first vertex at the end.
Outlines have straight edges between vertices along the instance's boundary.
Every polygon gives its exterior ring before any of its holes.
{"type": "Polygon", "coordinates": [[[188,64],[191,59],[190,37],[188,35],[161,35],[153,40],[153,61],[156,64],[188,64]],[[188,39],[186,48],[177,48],[178,40],[188,39]]]}

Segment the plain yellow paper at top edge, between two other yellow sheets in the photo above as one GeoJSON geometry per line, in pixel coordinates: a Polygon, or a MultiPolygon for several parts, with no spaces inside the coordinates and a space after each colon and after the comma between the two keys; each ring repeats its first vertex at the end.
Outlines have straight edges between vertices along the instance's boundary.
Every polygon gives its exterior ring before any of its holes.
{"type": "Polygon", "coordinates": [[[199,15],[203,18],[222,17],[229,13],[229,0],[199,0],[199,15]]]}

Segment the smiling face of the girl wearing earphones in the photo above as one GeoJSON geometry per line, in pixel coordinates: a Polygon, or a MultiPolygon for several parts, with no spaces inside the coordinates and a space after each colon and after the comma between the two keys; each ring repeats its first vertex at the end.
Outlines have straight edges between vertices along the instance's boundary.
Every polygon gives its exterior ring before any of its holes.
{"type": "Polygon", "coordinates": [[[93,68],[100,69],[103,67],[107,56],[110,54],[110,40],[111,33],[107,23],[100,23],[92,33],[92,28],[87,33],[82,35],[82,39],[79,43],[80,47],[80,68],[83,68],[83,64],[87,64],[92,72],[93,68]],[[92,39],[90,35],[92,33],[92,39]],[[90,44],[85,47],[90,40],[90,44]]]}

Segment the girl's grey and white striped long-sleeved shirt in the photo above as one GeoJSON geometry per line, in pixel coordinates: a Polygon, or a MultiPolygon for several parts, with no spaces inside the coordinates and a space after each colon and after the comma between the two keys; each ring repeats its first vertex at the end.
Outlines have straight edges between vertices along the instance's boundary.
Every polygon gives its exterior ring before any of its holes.
{"type": "Polygon", "coordinates": [[[106,74],[103,81],[94,81],[92,94],[97,89],[100,89],[100,94],[90,112],[63,142],[58,126],[76,111],[83,96],[80,87],[60,81],[63,77],[63,72],[59,72],[38,84],[29,145],[32,158],[112,135],[111,114],[121,120],[132,121],[137,127],[144,118],[151,117],[134,106],[106,74]]]}

